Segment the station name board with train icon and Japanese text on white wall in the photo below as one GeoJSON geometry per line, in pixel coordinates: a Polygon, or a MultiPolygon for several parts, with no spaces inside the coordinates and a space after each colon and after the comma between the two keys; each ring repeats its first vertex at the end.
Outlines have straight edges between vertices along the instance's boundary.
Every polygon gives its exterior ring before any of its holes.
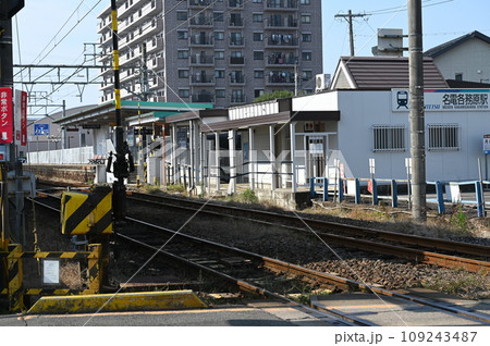
{"type": "MultiPolygon", "coordinates": [[[[408,89],[392,89],[392,110],[409,110],[408,89]]],[[[490,110],[490,89],[425,89],[424,107],[426,112],[448,111],[488,111],[490,110]]]]}

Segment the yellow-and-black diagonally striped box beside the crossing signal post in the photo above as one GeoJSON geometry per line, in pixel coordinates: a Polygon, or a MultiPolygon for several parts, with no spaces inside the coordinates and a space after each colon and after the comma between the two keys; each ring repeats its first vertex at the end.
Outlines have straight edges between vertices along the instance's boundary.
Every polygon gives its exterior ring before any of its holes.
{"type": "Polygon", "coordinates": [[[100,235],[112,233],[112,189],[98,186],[94,191],[65,191],[61,197],[61,233],[100,235]]]}

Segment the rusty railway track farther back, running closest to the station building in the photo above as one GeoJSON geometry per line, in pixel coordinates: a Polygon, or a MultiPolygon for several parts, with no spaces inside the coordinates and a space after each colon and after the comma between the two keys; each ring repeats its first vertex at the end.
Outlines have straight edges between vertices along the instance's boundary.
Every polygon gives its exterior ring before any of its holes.
{"type": "Polygon", "coordinates": [[[133,193],[131,201],[154,203],[194,213],[242,219],[246,222],[281,225],[302,233],[315,233],[326,244],[336,244],[363,251],[394,256],[419,263],[468,272],[490,272],[490,246],[372,230],[347,224],[298,218],[264,210],[222,206],[173,197],[133,193]],[[436,252],[437,251],[437,252],[436,252]]]}

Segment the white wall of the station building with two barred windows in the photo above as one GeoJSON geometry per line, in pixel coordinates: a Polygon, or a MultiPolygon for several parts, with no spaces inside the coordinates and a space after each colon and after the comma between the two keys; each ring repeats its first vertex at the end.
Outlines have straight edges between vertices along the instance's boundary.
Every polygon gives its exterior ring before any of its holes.
{"type": "MultiPolygon", "coordinates": [[[[373,158],[377,177],[403,180],[411,127],[408,109],[399,108],[399,91],[404,90],[334,90],[294,98],[293,110],[340,111],[336,148],[345,177],[369,177],[368,160],[373,158]]],[[[490,133],[489,96],[489,89],[426,90],[428,181],[477,180],[478,159],[488,177],[483,136],[490,133]],[[467,103],[457,104],[461,99],[467,103]]]]}

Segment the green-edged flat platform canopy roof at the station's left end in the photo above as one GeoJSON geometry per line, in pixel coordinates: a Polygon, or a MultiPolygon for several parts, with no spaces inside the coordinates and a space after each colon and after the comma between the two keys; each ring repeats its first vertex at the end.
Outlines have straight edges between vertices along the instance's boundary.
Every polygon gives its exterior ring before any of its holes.
{"type": "MultiPolygon", "coordinates": [[[[181,112],[193,112],[212,109],[211,103],[179,103],[179,102],[144,102],[121,101],[121,122],[124,124],[128,119],[138,114],[152,113],[155,118],[164,118],[181,112]]],[[[62,126],[100,125],[115,126],[114,101],[99,104],[85,111],[65,116],[56,121],[62,126]]]]}

